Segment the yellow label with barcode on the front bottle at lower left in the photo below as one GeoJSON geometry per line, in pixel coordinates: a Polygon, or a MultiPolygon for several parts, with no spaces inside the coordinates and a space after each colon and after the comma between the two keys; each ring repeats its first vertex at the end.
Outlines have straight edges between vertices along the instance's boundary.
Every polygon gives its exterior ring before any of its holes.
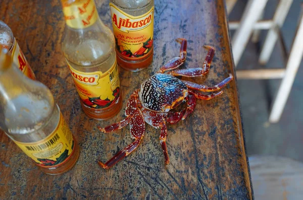
{"type": "Polygon", "coordinates": [[[74,149],[73,135],[61,113],[57,128],[47,138],[34,143],[14,142],[41,167],[57,167],[63,164],[74,149]]]}

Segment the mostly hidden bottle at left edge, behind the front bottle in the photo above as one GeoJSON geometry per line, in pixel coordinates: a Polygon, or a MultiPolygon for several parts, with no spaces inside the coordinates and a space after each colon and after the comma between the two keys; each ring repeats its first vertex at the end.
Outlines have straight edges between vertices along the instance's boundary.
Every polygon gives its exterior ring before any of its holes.
{"type": "Polygon", "coordinates": [[[30,68],[23,52],[21,51],[16,38],[13,35],[10,27],[0,20],[0,46],[8,49],[12,55],[13,61],[18,66],[19,70],[27,77],[35,80],[35,75],[30,68]]]}

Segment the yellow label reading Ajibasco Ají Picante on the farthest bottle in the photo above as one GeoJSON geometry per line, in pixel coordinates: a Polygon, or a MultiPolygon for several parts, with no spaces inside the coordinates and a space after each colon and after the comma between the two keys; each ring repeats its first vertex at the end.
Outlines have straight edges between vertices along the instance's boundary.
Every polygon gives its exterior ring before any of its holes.
{"type": "Polygon", "coordinates": [[[116,49],[120,56],[135,60],[154,47],[154,7],[141,16],[132,16],[110,3],[116,49]]]}

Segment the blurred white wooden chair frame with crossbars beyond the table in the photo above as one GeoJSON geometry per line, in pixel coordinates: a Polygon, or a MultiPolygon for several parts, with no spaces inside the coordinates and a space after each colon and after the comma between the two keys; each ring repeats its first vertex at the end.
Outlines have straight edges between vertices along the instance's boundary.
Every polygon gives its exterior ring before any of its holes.
{"type": "MultiPolygon", "coordinates": [[[[228,14],[232,11],[237,0],[226,0],[228,14]]],[[[280,0],[272,20],[260,20],[268,0],[249,0],[240,22],[229,22],[229,28],[235,29],[232,38],[232,52],[235,65],[238,64],[245,46],[254,33],[253,39],[258,38],[258,30],[269,30],[259,57],[259,63],[265,65],[279,39],[282,44],[285,69],[237,70],[238,79],[282,79],[278,93],[273,102],[269,122],[278,122],[287,98],[289,96],[295,75],[303,55],[303,18],[300,15],[299,24],[293,40],[290,53],[287,54],[280,28],[282,27],[292,0],[280,0]]]]}

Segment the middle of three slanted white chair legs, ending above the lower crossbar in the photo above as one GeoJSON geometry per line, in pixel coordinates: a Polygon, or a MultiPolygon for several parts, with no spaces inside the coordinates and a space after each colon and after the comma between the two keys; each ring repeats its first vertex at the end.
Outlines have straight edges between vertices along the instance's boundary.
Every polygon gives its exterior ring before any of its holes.
{"type": "Polygon", "coordinates": [[[266,64],[268,62],[278,38],[277,32],[275,31],[275,26],[278,26],[279,28],[282,27],[292,1],[293,0],[280,0],[273,18],[274,26],[272,26],[272,28],[268,31],[259,57],[259,63],[266,64]]]}

